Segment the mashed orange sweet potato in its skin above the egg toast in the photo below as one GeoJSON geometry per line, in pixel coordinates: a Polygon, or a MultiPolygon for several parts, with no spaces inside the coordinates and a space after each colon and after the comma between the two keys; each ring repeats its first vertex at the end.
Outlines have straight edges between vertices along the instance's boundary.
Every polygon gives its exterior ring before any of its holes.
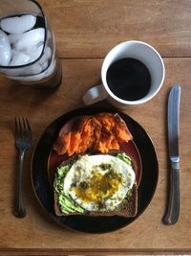
{"type": "Polygon", "coordinates": [[[119,150],[122,142],[131,139],[132,135],[119,115],[101,113],[69,121],[61,128],[53,149],[69,156],[89,150],[106,153],[119,150]]]}

